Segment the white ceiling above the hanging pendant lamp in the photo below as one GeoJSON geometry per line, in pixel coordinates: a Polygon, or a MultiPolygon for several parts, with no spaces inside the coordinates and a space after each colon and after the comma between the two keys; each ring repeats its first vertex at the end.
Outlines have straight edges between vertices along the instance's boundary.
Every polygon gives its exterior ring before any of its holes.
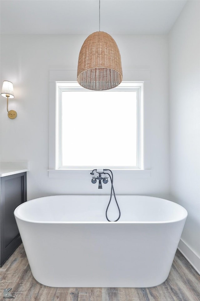
{"type": "MultiPolygon", "coordinates": [[[[101,0],[100,30],[166,34],[186,0],[101,0]]],[[[1,34],[90,34],[99,30],[98,0],[1,0],[1,34]]]]}

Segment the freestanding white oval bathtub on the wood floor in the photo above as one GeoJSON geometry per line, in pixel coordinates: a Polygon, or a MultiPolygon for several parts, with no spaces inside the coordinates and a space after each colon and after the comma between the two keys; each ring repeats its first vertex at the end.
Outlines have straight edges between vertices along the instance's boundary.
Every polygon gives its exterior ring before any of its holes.
{"type": "Polygon", "coordinates": [[[148,196],[60,195],[19,205],[14,215],[34,278],[52,287],[152,287],[170,272],[187,211],[148,196]],[[118,218],[112,200],[108,218],[118,218]]]}

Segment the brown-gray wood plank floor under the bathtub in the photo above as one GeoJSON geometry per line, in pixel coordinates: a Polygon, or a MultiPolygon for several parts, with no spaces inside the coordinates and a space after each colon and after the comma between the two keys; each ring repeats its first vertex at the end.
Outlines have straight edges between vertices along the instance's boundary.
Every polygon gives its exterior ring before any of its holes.
{"type": "Polygon", "coordinates": [[[179,252],[173,261],[168,279],[153,288],[51,288],[32,276],[21,244],[6,261],[1,272],[0,300],[3,289],[16,301],[199,301],[200,275],[179,252]]]}

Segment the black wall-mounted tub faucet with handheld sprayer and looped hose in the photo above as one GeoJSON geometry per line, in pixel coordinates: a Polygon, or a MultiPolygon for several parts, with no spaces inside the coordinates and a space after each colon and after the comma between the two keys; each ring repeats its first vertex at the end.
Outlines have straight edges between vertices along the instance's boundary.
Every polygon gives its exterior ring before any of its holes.
{"type": "Polygon", "coordinates": [[[90,172],[91,176],[94,176],[94,171],[97,172],[99,175],[98,175],[98,177],[93,177],[91,182],[93,184],[95,184],[97,182],[97,180],[99,180],[98,189],[102,189],[101,180],[103,180],[104,184],[107,184],[108,183],[108,177],[110,178],[110,181],[111,181],[111,193],[110,193],[110,200],[109,200],[109,203],[108,203],[108,206],[107,206],[107,209],[106,209],[106,219],[110,222],[110,220],[108,219],[108,216],[107,216],[107,212],[108,212],[108,208],[109,208],[109,205],[110,205],[110,202],[111,202],[111,199],[112,199],[112,193],[113,193],[114,194],[114,198],[115,198],[115,202],[116,202],[116,204],[118,206],[118,210],[119,210],[118,219],[114,220],[114,222],[117,222],[119,220],[120,216],[121,216],[121,212],[120,212],[120,209],[119,209],[119,205],[118,205],[118,202],[117,202],[117,199],[116,199],[116,196],[115,196],[114,187],[113,187],[113,172],[110,169],[97,168],[97,169],[93,169],[93,171],[90,172]],[[108,172],[110,172],[111,175],[108,172]],[[102,174],[108,175],[108,177],[102,177],[101,176],[102,174]]]}

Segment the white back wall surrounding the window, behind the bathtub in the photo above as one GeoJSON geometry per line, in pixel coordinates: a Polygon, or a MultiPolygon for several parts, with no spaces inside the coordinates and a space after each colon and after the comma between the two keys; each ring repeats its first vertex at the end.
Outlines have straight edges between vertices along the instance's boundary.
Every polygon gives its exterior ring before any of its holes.
{"type": "MultiPolygon", "coordinates": [[[[9,108],[17,111],[16,119],[8,119],[6,99],[1,97],[1,161],[30,162],[28,199],[52,194],[110,192],[108,185],[98,190],[97,185],[91,183],[88,172],[83,176],[78,171],[73,172],[65,178],[49,178],[47,172],[49,70],[76,70],[79,51],[86,37],[1,36],[1,85],[3,80],[13,82],[15,98],[10,100],[9,108]]],[[[145,166],[151,169],[151,175],[115,171],[115,192],[168,198],[168,37],[116,35],[113,38],[121,53],[124,80],[138,80],[143,72],[147,72],[150,80],[145,83],[144,115],[145,166]],[[133,77],[133,73],[136,76],[133,77]]],[[[95,148],[91,147],[91,151],[95,148]]]]}

